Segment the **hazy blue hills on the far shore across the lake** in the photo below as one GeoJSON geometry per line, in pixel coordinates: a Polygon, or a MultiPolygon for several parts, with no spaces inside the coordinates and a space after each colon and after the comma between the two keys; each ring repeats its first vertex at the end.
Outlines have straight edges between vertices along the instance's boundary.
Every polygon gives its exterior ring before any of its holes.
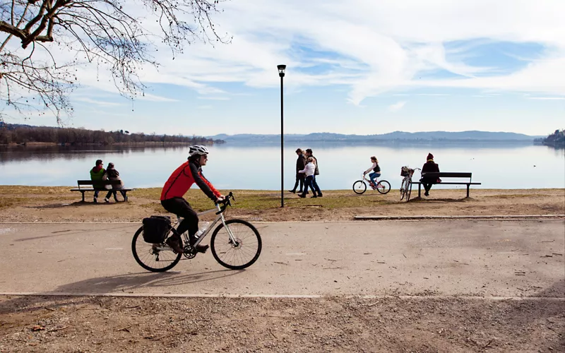
{"type": "MultiPolygon", "coordinates": [[[[227,135],[225,133],[208,136],[213,139],[225,140],[227,143],[275,143],[280,142],[280,135],[260,135],[242,133],[227,135]]],[[[442,142],[442,141],[502,141],[502,142],[533,142],[541,136],[528,136],[523,133],[490,132],[490,131],[426,131],[408,133],[394,131],[375,135],[345,135],[342,133],[309,133],[309,134],[285,134],[285,142],[344,142],[344,143],[371,143],[381,141],[397,142],[442,142]]]]}

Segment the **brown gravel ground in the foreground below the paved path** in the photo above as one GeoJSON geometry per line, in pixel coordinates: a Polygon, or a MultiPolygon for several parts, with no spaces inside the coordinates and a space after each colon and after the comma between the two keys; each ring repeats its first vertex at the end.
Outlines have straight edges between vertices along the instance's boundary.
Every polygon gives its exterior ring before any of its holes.
{"type": "Polygon", "coordinates": [[[565,352],[565,302],[1,297],[0,352],[565,352]]]}

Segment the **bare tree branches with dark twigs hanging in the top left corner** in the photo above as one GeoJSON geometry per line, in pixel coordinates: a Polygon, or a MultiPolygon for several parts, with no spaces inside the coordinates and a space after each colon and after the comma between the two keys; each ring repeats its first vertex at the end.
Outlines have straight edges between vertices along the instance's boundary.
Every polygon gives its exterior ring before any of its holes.
{"type": "Polygon", "coordinates": [[[0,100],[23,112],[37,106],[29,102],[30,96],[32,100],[37,97],[35,102],[54,112],[57,119],[61,113],[72,113],[68,95],[77,84],[74,67],[81,61],[59,65],[48,45],[64,45],[83,54],[89,63],[109,65],[119,92],[136,97],[145,88],[138,70],[143,64],[158,66],[150,55],[154,37],[167,44],[173,57],[195,40],[230,42],[230,37],[216,32],[212,20],[222,1],[0,0],[0,32],[7,35],[0,46],[0,100]],[[157,32],[133,16],[134,2],[147,9],[143,20],[157,20],[157,32]],[[20,40],[20,49],[8,46],[12,37],[20,40]],[[42,57],[47,59],[34,60],[38,52],[46,53],[42,57]]]}

